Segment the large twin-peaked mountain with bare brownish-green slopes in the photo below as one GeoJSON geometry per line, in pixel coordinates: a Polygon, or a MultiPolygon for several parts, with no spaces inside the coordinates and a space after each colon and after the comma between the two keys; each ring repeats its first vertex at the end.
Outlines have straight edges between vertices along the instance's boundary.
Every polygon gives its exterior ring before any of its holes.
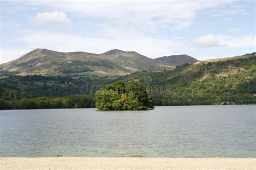
{"type": "Polygon", "coordinates": [[[148,58],[137,52],[118,49],[101,54],[36,49],[16,60],[1,64],[0,71],[22,76],[31,74],[120,76],[136,71],[163,70],[173,67],[173,65],[148,58]]]}

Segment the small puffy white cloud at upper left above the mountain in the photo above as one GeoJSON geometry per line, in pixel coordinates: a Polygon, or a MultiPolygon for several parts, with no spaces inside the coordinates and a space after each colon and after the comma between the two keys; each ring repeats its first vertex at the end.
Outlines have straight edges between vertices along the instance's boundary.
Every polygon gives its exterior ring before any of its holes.
{"type": "Polygon", "coordinates": [[[50,25],[72,25],[72,21],[66,16],[63,11],[52,11],[37,13],[33,18],[35,24],[50,24],[50,25]]]}

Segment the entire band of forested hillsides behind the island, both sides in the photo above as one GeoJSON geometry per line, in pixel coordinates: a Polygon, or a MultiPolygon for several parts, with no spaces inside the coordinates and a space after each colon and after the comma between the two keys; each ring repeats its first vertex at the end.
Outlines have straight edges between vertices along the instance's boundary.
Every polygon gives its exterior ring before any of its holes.
{"type": "Polygon", "coordinates": [[[144,81],[154,106],[256,104],[256,56],[140,71],[123,77],[12,76],[0,78],[0,109],[95,107],[97,87],[144,81]],[[83,88],[82,88],[83,87],[83,88]],[[82,89],[81,89],[82,88],[82,89]]]}

